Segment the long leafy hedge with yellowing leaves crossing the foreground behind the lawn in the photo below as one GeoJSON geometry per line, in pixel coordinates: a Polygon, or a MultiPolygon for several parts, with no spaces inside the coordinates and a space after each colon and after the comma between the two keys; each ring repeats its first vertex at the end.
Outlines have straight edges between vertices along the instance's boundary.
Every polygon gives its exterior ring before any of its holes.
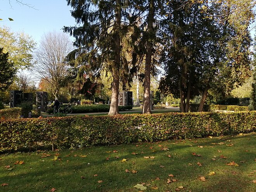
{"type": "Polygon", "coordinates": [[[112,145],[256,131],[256,111],[0,120],[0,151],[112,145]],[[41,146],[42,147],[42,146],[41,146]]]}

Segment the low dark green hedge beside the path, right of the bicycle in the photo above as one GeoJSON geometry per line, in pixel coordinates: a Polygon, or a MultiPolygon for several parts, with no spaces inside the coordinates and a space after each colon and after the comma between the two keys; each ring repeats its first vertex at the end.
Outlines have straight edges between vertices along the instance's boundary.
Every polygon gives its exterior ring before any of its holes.
{"type": "MultiPolygon", "coordinates": [[[[72,113],[87,112],[109,112],[109,105],[78,105],[72,106],[72,113]]],[[[131,110],[132,106],[118,106],[119,111],[131,110]]],[[[48,114],[52,114],[54,108],[47,109],[48,114]]]]}

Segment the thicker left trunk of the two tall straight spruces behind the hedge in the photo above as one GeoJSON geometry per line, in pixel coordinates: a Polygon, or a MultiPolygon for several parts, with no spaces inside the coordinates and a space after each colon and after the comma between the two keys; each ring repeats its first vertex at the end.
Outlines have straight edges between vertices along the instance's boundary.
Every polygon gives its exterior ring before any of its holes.
{"type": "Polygon", "coordinates": [[[120,35],[119,30],[121,28],[121,0],[116,0],[116,18],[114,23],[114,35],[115,35],[115,61],[112,64],[112,95],[111,95],[111,104],[109,109],[110,116],[119,114],[118,110],[118,96],[119,96],[119,67],[120,67],[120,54],[121,54],[121,46],[120,46],[120,35]]]}

